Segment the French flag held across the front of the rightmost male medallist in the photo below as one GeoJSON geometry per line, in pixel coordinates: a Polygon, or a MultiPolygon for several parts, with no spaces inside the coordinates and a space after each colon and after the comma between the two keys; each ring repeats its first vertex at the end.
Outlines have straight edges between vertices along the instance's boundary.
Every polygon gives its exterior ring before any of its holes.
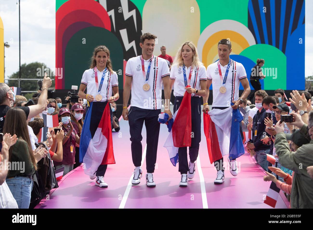
{"type": "Polygon", "coordinates": [[[224,110],[213,109],[203,114],[204,134],[211,164],[228,154],[231,160],[244,154],[239,130],[242,120],[239,109],[233,110],[232,107],[224,110]]]}

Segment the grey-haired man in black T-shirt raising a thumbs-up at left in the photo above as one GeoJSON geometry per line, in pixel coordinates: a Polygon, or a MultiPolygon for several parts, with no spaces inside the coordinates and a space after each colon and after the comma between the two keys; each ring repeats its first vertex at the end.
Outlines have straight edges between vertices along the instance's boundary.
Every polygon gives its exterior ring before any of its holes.
{"type": "MultiPolygon", "coordinates": [[[[39,96],[37,105],[29,105],[18,107],[22,109],[26,114],[26,119],[33,118],[46,109],[48,88],[51,86],[52,81],[49,77],[44,76],[42,81],[43,89],[39,96]]],[[[15,94],[13,88],[10,88],[5,83],[0,83],[0,132],[2,132],[5,116],[8,110],[13,106],[15,102],[15,94]]],[[[26,104],[27,105],[27,104],[26,104]]]]}

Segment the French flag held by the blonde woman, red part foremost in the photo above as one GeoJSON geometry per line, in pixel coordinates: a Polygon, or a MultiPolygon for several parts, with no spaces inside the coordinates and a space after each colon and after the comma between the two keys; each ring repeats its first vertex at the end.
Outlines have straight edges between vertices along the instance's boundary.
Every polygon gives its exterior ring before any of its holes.
{"type": "MultiPolygon", "coordinates": [[[[190,87],[187,85],[187,87],[190,87]]],[[[161,118],[162,118],[162,114],[161,118]]],[[[159,115],[159,118],[160,118],[159,115]]],[[[179,109],[173,115],[172,128],[169,126],[170,134],[165,141],[165,147],[170,156],[173,166],[178,162],[178,148],[191,146],[191,94],[185,92],[179,109]]]]}

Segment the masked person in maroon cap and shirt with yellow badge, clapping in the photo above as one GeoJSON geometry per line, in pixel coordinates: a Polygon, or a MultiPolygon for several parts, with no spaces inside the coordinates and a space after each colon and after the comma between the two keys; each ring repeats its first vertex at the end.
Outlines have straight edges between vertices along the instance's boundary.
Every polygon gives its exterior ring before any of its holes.
{"type": "Polygon", "coordinates": [[[79,144],[80,137],[71,123],[71,111],[68,108],[62,108],[59,111],[59,120],[62,122],[63,138],[63,159],[61,162],[53,162],[55,169],[64,167],[63,176],[73,170],[75,164],[76,144],[79,144]]]}

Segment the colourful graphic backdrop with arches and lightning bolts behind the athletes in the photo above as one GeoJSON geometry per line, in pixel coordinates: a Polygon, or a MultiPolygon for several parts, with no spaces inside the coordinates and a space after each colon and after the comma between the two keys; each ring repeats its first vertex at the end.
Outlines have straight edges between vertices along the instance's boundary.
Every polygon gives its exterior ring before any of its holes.
{"type": "Polygon", "coordinates": [[[218,60],[218,41],[228,38],[230,57],[248,79],[256,59],[265,60],[262,89],[305,88],[304,0],[56,0],[56,67],[64,73],[56,89],[80,84],[97,45],[110,49],[122,89],[125,62],[141,54],[146,32],[158,38],[155,55],[165,45],[175,56],[190,40],[205,66],[218,60]]]}

